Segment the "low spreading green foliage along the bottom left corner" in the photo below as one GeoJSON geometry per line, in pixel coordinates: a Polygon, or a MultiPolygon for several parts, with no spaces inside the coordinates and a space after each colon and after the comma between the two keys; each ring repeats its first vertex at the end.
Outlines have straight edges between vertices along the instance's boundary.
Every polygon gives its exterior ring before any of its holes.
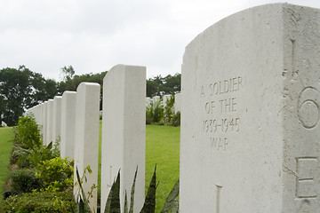
{"type": "Polygon", "coordinates": [[[76,203],[72,191],[65,192],[34,192],[13,195],[4,201],[4,213],[69,213],[74,212],[76,203]]]}

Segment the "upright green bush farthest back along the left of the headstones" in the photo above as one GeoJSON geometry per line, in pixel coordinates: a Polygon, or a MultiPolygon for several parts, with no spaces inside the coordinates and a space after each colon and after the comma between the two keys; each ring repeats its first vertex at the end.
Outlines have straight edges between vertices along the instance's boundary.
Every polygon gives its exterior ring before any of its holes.
{"type": "Polygon", "coordinates": [[[14,140],[24,148],[34,149],[42,145],[39,125],[32,114],[20,117],[14,129],[14,140]]]}

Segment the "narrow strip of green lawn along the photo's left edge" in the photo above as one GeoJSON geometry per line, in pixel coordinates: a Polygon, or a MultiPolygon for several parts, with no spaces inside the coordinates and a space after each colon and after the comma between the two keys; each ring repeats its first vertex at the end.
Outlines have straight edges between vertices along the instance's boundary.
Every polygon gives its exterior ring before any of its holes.
{"type": "Polygon", "coordinates": [[[13,147],[12,127],[0,128],[0,203],[3,201],[4,185],[8,178],[8,171],[13,147]]]}

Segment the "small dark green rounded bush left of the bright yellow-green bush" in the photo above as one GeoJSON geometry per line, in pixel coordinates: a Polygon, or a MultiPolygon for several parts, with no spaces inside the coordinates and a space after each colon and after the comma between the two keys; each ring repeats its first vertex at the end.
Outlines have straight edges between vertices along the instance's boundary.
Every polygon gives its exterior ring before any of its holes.
{"type": "Polygon", "coordinates": [[[36,177],[36,172],[29,169],[13,170],[12,178],[13,193],[30,193],[41,187],[41,181],[36,177]]]}

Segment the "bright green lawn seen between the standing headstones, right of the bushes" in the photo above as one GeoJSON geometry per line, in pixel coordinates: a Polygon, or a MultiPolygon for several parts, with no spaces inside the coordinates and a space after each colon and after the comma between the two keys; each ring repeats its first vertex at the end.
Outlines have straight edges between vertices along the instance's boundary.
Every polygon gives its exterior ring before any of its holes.
{"type": "MultiPolygon", "coordinates": [[[[99,148],[101,150],[101,121],[99,148]]],[[[155,165],[156,181],[159,184],[156,189],[156,212],[160,212],[166,197],[179,179],[180,127],[146,126],[146,193],[155,165]]],[[[99,168],[101,168],[101,152],[99,152],[99,168]]],[[[100,170],[98,187],[100,191],[100,170]]]]}

